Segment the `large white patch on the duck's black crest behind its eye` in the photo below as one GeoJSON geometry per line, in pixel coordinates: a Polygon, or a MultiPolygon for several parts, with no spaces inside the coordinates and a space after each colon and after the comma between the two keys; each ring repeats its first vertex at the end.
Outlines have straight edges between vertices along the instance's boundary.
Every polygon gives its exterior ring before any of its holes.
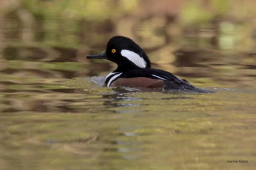
{"type": "Polygon", "coordinates": [[[145,68],[147,66],[147,62],[138,55],[138,53],[134,53],[130,50],[122,50],[121,55],[127,58],[128,60],[131,60],[136,66],[145,68]]]}

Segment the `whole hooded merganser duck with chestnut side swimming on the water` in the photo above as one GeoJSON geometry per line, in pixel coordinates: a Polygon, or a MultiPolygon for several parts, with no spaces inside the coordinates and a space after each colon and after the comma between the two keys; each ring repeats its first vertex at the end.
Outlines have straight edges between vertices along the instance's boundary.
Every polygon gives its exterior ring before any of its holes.
{"type": "Polygon", "coordinates": [[[88,55],[86,58],[108,59],[117,64],[115,71],[106,76],[107,87],[163,87],[166,90],[183,92],[212,92],[198,89],[175,74],[150,68],[150,60],[146,53],[132,39],[124,36],[114,36],[109,39],[105,52],[88,55]]]}

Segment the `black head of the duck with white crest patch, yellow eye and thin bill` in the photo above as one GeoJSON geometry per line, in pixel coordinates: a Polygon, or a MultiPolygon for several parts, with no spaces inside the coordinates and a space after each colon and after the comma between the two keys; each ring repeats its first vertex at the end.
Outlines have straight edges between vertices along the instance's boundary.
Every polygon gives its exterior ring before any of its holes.
{"type": "Polygon", "coordinates": [[[106,52],[88,55],[87,58],[111,60],[118,65],[116,71],[150,67],[146,53],[132,39],[124,36],[114,36],[109,39],[106,52]]]}

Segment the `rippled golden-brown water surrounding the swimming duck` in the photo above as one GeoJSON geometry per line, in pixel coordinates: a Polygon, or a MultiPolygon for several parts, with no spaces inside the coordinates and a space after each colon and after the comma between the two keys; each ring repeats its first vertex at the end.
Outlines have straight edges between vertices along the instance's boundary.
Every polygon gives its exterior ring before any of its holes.
{"type": "Polygon", "coordinates": [[[230,29],[227,23],[186,27],[173,20],[164,25],[161,17],[109,24],[26,16],[15,11],[1,17],[0,169],[256,166],[252,38],[239,50],[237,32],[214,32],[230,29]],[[134,34],[127,25],[135,25],[134,34]],[[177,27],[185,32],[178,34],[177,27]],[[200,34],[191,37],[195,30],[200,34]],[[115,34],[136,40],[153,67],[216,93],[102,87],[115,64],[85,56],[102,52],[115,34]]]}

